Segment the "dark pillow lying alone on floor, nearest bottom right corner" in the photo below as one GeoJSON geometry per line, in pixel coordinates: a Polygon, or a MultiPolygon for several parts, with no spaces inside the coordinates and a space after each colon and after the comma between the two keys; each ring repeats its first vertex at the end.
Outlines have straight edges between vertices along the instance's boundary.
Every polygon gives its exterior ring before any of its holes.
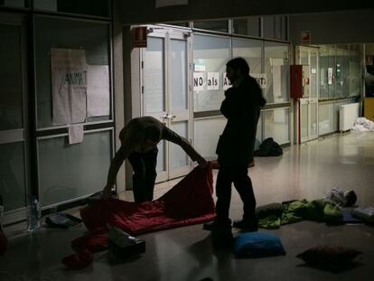
{"type": "Polygon", "coordinates": [[[353,248],[344,248],[340,246],[316,246],[305,250],[296,256],[313,267],[337,271],[349,269],[353,264],[353,259],[361,252],[353,248]]]}

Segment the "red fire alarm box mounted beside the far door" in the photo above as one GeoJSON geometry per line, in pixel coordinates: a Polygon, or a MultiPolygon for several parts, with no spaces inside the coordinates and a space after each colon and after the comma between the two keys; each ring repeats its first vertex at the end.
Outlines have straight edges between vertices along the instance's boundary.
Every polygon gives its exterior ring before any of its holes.
{"type": "Polygon", "coordinates": [[[310,91],[310,66],[290,65],[290,91],[291,98],[309,97],[310,91]]]}

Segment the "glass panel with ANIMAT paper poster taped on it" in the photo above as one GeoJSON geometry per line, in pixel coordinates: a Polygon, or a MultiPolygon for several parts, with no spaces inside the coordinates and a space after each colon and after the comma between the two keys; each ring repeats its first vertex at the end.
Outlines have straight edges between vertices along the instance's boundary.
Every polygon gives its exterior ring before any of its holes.
{"type": "Polygon", "coordinates": [[[36,15],[34,26],[38,192],[47,207],[106,183],[113,136],[110,23],[36,15]]]}

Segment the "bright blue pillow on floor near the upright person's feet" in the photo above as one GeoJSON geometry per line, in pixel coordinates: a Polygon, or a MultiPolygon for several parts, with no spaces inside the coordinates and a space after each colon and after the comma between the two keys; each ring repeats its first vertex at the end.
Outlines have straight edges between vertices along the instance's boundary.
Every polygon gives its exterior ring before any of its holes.
{"type": "Polygon", "coordinates": [[[285,249],[276,235],[250,232],[235,238],[234,254],[236,258],[261,258],[285,255],[285,249]]]}

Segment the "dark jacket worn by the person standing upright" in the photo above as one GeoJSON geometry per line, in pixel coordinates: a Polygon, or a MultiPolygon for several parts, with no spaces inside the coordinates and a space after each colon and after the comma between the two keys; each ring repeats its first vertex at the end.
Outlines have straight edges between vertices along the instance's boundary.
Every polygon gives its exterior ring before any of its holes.
{"type": "Polygon", "coordinates": [[[260,109],[266,103],[257,80],[245,77],[225,91],[220,111],[228,119],[216,153],[220,165],[248,166],[253,159],[260,109]]]}

